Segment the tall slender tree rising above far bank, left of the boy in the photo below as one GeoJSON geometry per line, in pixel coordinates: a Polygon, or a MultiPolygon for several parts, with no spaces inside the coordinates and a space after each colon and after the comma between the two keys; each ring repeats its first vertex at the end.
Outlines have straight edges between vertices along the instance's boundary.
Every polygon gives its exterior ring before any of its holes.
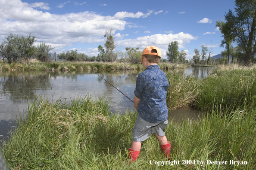
{"type": "Polygon", "coordinates": [[[114,51],[116,49],[116,45],[113,29],[111,28],[109,31],[105,31],[104,37],[107,39],[104,46],[106,47],[106,54],[109,58],[109,61],[115,61],[116,54],[114,53],[114,51]]]}

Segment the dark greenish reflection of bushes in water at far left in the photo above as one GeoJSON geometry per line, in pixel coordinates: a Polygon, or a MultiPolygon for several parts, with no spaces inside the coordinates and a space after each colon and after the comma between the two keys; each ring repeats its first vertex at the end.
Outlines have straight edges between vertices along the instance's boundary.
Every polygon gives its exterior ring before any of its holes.
{"type": "Polygon", "coordinates": [[[34,99],[37,90],[46,91],[48,87],[51,87],[48,73],[10,72],[8,76],[1,77],[0,94],[20,103],[27,98],[34,99]]]}

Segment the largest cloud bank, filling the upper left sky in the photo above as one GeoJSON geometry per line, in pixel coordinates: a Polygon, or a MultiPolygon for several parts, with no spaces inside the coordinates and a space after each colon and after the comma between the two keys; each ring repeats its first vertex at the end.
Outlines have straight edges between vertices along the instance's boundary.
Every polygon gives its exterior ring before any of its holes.
{"type": "Polygon", "coordinates": [[[126,26],[126,21],[122,19],[95,12],[57,15],[34,9],[46,5],[23,3],[21,0],[0,0],[0,38],[5,38],[10,32],[19,36],[31,33],[36,36],[37,42],[45,42],[59,49],[72,46],[73,43],[104,42],[106,30],[124,30],[126,26]]]}

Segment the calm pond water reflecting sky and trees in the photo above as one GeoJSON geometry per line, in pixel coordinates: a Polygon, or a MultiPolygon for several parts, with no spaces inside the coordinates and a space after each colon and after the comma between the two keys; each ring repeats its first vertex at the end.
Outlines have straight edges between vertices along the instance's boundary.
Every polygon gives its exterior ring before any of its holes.
{"type": "MultiPolygon", "coordinates": [[[[188,67],[186,75],[193,74],[198,78],[206,77],[210,67],[188,67]]],[[[112,83],[120,91],[133,100],[137,75],[142,71],[111,71],[97,72],[112,83]]],[[[112,112],[125,113],[134,109],[133,103],[109,83],[89,71],[69,72],[0,72],[0,141],[9,138],[9,131],[14,128],[13,122],[24,114],[28,101],[43,95],[45,98],[57,100],[60,97],[75,97],[91,95],[93,98],[104,95],[110,99],[112,112]]],[[[183,118],[197,118],[198,110],[177,109],[169,112],[169,118],[177,121],[183,118]]]]}

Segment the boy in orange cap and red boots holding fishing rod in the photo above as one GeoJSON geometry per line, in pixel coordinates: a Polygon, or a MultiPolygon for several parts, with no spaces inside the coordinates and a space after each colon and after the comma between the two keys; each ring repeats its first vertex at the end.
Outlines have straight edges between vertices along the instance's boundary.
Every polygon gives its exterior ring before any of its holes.
{"type": "Polygon", "coordinates": [[[142,52],[141,63],[146,68],[137,77],[134,89],[134,107],[138,110],[133,127],[129,158],[136,161],[140,153],[141,142],[155,134],[162,151],[169,158],[171,142],[167,141],[163,129],[168,121],[166,93],[169,87],[165,74],[157,65],[162,57],[159,48],[147,46],[142,52]]]}

